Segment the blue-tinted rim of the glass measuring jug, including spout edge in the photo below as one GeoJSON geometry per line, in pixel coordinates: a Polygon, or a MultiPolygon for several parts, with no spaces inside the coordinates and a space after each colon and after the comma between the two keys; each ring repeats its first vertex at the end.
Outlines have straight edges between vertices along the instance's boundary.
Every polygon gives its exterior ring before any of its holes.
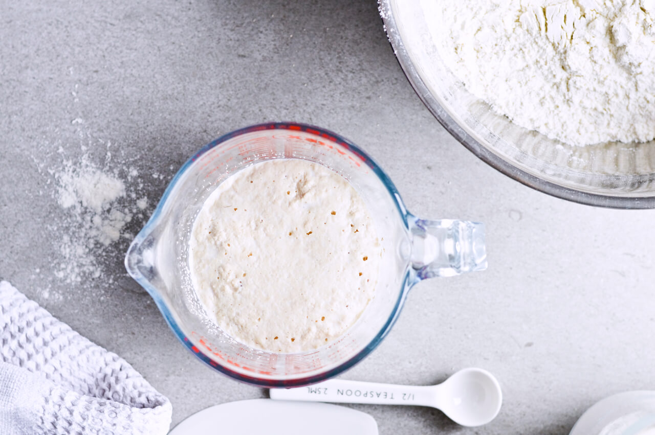
{"type": "MultiPolygon", "coordinates": [[[[364,347],[364,349],[358,352],[357,355],[350,358],[346,362],[339,364],[339,366],[331,370],[327,370],[327,372],[321,374],[310,375],[306,377],[298,377],[293,379],[268,379],[265,377],[258,377],[257,375],[255,375],[255,372],[253,372],[253,375],[246,375],[243,374],[242,372],[237,372],[224,364],[215,362],[215,360],[205,355],[202,349],[200,347],[197,347],[196,343],[194,343],[191,340],[191,338],[189,338],[181,330],[181,328],[179,328],[178,323],[175,321],[170,309],[168,309],[168,306],[162,299],[162,296],[160,295],[157,288],[155,288],[149,281],[147,281],[147,279],[145,279],[145,277],[143,277],[143,275],[141,275],[140,272],[133,270],[130,267],[128,261],[132,249],[141,245],[141,243],[146,239],[146,237],[149,234],[151,234],[152,229],[159,222],[159,219],[162,214],[162,209],[164,208],[164,203],[166,203],[166,200],[168,200],[168,196],[170,196],[173,188],[181,178],[181,175],[185,173],[187,169],[189,169],[189,166],[191,166],[196,161],[196,159],[200,158],[200,156],[208,152],[208,150],[217,147],[221,143],[228,141],[233,137],[243,135],[246,133],[252,133],[253,131],[263,131],[263,130],[305,131],[310,134],[324,137],[329,141],[332,141],[333,143],[337,143],[337,145],[340,145],[341,147],[345,147],[346,149],[348,149],[350,152],[358,156],[358,158],[360,158],[360,160],[362,160],[364,164],[366,164],[369,168],[371,168],[375,173],[375,175],[377,175],[377,177],[380,179],[380,181],[382,181],[384,187],[386,188],[386,190],[394,200],[394,203],[396,204],[396,209],[398,209],[398,213],[402,217],[402,221],[405,226],[405,229],[409,229],[408,220],[412,217],[412,215],[411,213],[407,212],[407,209],[405,208],[405,204],[400,198],[400,194],[398,194],[398,190],[396,189],[396,186],[394,186],[394,183],[392,183],[388,175],[384,173],[381,167],[379,167],[379,165],[375,163],[375,161],[368,154],[366,154],[364,150],[354,145],[354,143],[348,141],[348,139],[345,139],[341,135],[337,135],[332,131],[325,130],[323,128],[319,128],[316,126],[312,126],[310,124],[302,124],[298,122],[268,122],[265,124],[255,124],[252,126],[240,128],[239,130],[234,130],[231,131],[230,133],[226,133],[225,135],[222,135],[218,139],[215,139],[214,141],[200,148],[198,152],[196,152],[191,158],[189,158],[189,160],[185,162],[185,164],[183,164],[179,168],[178,172],[174,175],[173,179],[170,181],[170,183],[168,183],[168,186],[166,187],[166,190],[164,191],[162,198],[159,200],[159,203],[157,204],[157,208],[153,212],[153,215],[149,218],[148,222],[145,224],[145,226],[143,226],[143,229],[141,229],[139,234],[137,234],[136,237],[134,238],[134,241],[132,241],[132,243],[130,244],[128,252],[126,253],[125,256],[125,268],[127,269],[128,273],[136,280],[136,282],[139,283],[141,287],[145,288],[145,290],[153,298],[155,304],[157,304],[157,307],[159,308],[159,311],[161,311],[162,315],[164,316],[166,323],[168,323],[168,326],[170,326],[170,328],[173,330],[175,335],[178,337],[179,341],[181,341],[181,343],[185,345],[189,349],[189,351],[191,351],[191,353],[193,353],[196,357],[198,357],[202,362],[204,362],[211,368],[214,368],[214,370],[221,372],[224,375],[232,377],[237,381],[248,383],[250,385],[256,385],[258,387],[267,387],[267,388],[301,387],[303,385],[310,385],[312,383],[324,381],[325,379],[329,379],[330,377],[334,377],[336,375],[345,372],[346,370],[352,368],[352,366],[360,362],[362,359],[364,359],[364,357],[366,357],[369,353],[371,353],[371,351],[373,351],[373,349],[375,349],[379,345],[379,343],[384,339],[386,334],[388,334],[388,332],[391,330],[391,327],[398,319],[398,315],[400,314],[403,302],[405,302],[405,297],[407,296],[407,290],[409,290],[409,288],[411,288],[412,285],[415,284],[416,282],[415,279],[411,277],[409,268],[407,268],[407,270],[405,271],[405,276],[403,277],[403,285],[398,294],[398,299],[396,300],[396,304],[394,305],[392,314],[390,315],[389,319],[384,323],[383,327],[377,333],[375,338],[373,338],[364,347]]],[[[244,368],[244,370],[247,369],[244,368]]]]}

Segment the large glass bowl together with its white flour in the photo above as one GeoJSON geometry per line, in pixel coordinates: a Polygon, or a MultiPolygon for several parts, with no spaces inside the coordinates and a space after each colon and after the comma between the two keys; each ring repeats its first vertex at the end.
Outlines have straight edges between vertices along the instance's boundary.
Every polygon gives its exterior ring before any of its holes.
{"type": "Polygon", "coordinates": [[[655,3],[620,3],[381,0],[380,11],[419,97],[487,164],[565,200],[653,208],[655,3]]]}

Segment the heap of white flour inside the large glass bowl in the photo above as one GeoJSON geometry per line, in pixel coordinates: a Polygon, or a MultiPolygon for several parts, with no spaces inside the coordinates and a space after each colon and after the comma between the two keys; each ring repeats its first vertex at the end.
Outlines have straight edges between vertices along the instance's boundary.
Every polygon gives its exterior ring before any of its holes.
{"type": "Polygon", "coordinates": [[[655,0],[422,0],[440,56],[515,124],[571,145],[655,137],[655,0]]]}

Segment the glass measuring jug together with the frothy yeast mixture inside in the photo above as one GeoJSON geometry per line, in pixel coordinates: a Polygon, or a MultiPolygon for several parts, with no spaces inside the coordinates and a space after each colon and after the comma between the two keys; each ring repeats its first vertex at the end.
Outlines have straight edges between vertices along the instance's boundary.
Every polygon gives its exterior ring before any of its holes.
{"type": "Polygon", "coordinates": [[[272,123],[189,159],[125,265],[202,362],[295,387],[366,357],[422,279],[487,261],[483,224],[417,218],[360,148],[272,123]]]}

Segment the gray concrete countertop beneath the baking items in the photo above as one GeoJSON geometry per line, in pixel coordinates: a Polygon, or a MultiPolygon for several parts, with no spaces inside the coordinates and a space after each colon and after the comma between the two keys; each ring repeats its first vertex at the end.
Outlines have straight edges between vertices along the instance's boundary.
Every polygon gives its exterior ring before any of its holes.
{"type": "Polygon", "coordinates": [[[381,434],[565,434],[605,396],[655,390],[655,211],[550,198],[477,160],[413,92],[375,1],[5,0],[0,10],[0,278],[131,362],[170,398],[174,424],[267,391],[178,343],[122,267],[129,237],[92,247],[98,273],[61,273],[64,237],[79,232],[57,175],[83,160],[119,174],[135,193],[125,207],[148,199],[125,228],[136,234],[195,150],[270,120],[348,137],[416,215],[487,224],[489,270],[418,285],[343,377],[430,385],[479,366],[503,387],[500,415],[461,428],[434,409],[355,406],[381,434]]]}

